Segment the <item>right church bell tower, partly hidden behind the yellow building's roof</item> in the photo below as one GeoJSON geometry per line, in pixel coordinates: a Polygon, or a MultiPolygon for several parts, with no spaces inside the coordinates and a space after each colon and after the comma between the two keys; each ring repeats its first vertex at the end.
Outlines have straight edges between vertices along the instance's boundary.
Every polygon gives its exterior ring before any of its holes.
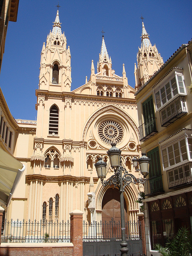
{"type": "Polygon", "coordinates": [[[142,36],[141,36],[141,48],[137,53],[137,66],[135,63],[135,89],[139,90],[163,65],[163,59],[158,53],[156,45],[152,46],[149,40],[149,34],[147,34],[143,17],[142,19],[142,36]]]}

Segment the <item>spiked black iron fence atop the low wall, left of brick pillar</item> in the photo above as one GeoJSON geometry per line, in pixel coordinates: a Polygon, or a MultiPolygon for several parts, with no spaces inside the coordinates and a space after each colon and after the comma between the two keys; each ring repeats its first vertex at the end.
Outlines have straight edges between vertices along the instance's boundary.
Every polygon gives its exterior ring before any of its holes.
{"type": "Polygon", "coordinates": [[[5,220],[1,242],[70,242],[70,222],[5,220]]]}

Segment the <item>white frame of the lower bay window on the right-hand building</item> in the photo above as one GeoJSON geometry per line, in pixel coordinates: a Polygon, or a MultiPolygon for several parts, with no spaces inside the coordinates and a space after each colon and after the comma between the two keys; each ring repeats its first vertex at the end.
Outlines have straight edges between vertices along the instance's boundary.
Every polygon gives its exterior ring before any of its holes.
{"type": "MultiPolygon", "coordinates": [[[[192,162],[192,158],[190,158],[188,138],[192,138],[192,132],[182,130],[178,134],[172,136],[170,139],[165,140],[163,142],[160,142],[163,171],[168,171],[172,168],[175,168],[175,167],[180,166],[181,164],[185,164],[187,162],[192,162]],[[183,140],[183,139],[185,139],[185,146],[186,146],[186,153],[187,153],[187,159],[184,160],[184,161],[182,161],[182,157],[181,157],[182,154],[181,154],[181,148],[180,148],[180,141],[183,140]],[[178,142],[178,145],[179,145],[180,162],[178,162],[177,164],[170,165],[170,159],[169,159],[169,155],[168,155],[168,147],[170,147],[171,145],[173,146],[177,142],[178,142]],[[164,149],[166,149],[167,158],[168,158],[168,167],[166,167],[166,168],[164,168],[163,153],[162,153],[162,151],[164,149]]],[[[175,154],[174,154],[174,161],[175,161],[175,154]]]]}

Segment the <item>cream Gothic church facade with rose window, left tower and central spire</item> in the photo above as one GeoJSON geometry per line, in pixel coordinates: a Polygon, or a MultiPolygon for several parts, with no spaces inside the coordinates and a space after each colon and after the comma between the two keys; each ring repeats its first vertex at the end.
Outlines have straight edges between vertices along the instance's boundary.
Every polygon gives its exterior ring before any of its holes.
{"type": "MultiPolygon", "coordinates": [[[[122,150],[122,165],[137,178],[141,175],[132,163],[141,154],[136,90],[128,85],[124,64],[122,76],[115,74],[103,36],[97,69],[92,60],[90,79],[71,91],[70,62],[57,11],[41,52],[37,121],[16,120],[13,155],[26,170],[8,219],[67,221],[78,209],[86,221],[119,220],[119,192],[104,188],[94,167],[101,156],[106,178],[113,174],[106,153],[113,141],[122,150]]],[[[126,220],[137,221],[140,190],[139,184],[126,187],[126,220]]]]}

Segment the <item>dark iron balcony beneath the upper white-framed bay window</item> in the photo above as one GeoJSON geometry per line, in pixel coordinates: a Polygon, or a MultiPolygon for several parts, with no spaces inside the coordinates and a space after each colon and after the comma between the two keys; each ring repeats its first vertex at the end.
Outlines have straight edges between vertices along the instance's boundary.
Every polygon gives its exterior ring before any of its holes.
{"type": "Polygon", "coordinates": [[[167,127],[187,113],[184,96],[178,96],[160,110],[161,126],[167,127]]]}

